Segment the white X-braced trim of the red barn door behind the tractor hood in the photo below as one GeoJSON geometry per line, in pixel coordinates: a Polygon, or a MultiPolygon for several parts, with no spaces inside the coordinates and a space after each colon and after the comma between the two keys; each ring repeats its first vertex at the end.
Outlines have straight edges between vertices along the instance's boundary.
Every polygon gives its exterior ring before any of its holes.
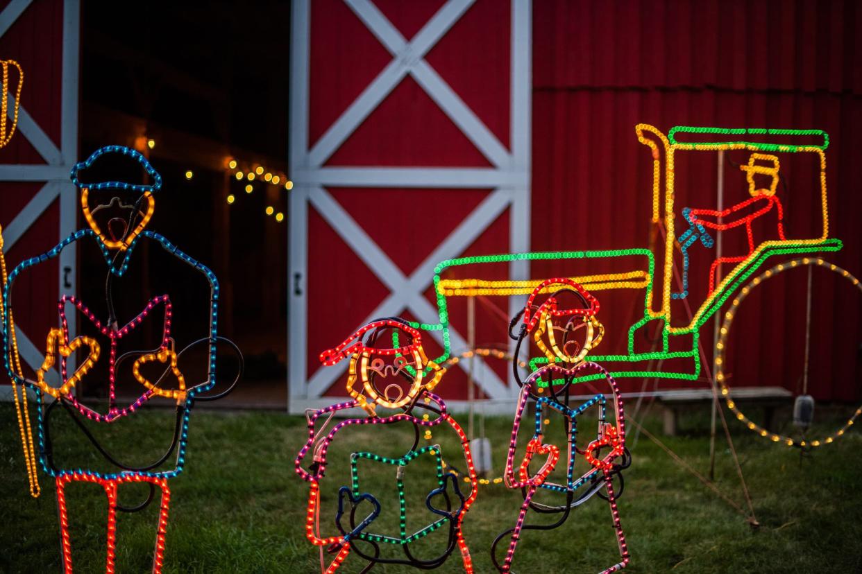
{"type": "MultiPolygon", "coordinates": [[[[388,316],[409,309],[419,321],[439,323],[437,310],[422,293],[434,278],[434,266],[445,259],[459,256],[500,213],[509,207],[509,251],[529,250],[530,238],[530,116],[531,116],[531,0],[512,0],[511,4],[511,74],[510,74],[510,133],[511,151],[484,125],[453,89],[424,59],[461,15],[470,9],[473,0],[449,0],[415,34],[405,40],[397,28],[378,10],[371,0],[345,0],[372,34],[390,52],[392,60],[338,120],[309,149],[309,0],[294,0],[291,16],[290,53],[290,173],[294,182],[290,192],[290,237],[288,266],[288,394],[290,412],[301,413],[306,408],[319,408],[339,400],[323,398],[347,365],[318,369],[306,380],[307,305],[305,281],[308,276],[308,205],[326,219],[340,238],[356,252],[365,265],[389,287],[390,294],[362,324],[372,318],[388,316]],[[372,114],[404,77],[411,76],[428,96],[453,120],[492,167],[489,168],[429,168],[429,167],[324,167],[340,145],[372,114]],[[325,187],[347,188],[490,188],[491,193],[459,226],[439,244],[415,271],[404,276],[397,265],[372,238],[340,207],[325,187]]],[[[509,264],[509,277],[527,279],[529,262],[509,264]]],[[[518,311],[515,298],[509,299],[509,312],[518,311]]],[[[359,327],[359,325],[357,325],[359,327]]],[[[429,331],[442,344],[441,331],[429,331]]],[[[450,328],[453,349],[466,349],[463,336],[450,328]]],[[[462,361],[462,368],[465,362],[462,361]]],[[[494,402],[504,401],[509,408],[514,387],[507,385],[497,373],[478,361],[475,376],[487,396],[494,402]]]]}

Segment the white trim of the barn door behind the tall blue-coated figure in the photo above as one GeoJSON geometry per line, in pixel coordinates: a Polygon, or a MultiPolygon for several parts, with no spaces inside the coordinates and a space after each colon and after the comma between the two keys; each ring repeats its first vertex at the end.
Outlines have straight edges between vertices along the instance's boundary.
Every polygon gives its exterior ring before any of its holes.
{"type": "MultiPolygon", "coordinates": [[[[16,22],[18,16],[28,9],[30,4],[38,0],[12,0],[0,12],[0,37],[16,22]]],[[[9,225],[3,227],[3,249],[9,248],[22,237],[30,225],[39,219],[42,213],[59,197],[59,229],[57,243],[71,235],[77,225],[78,201],[77,190],[69,180],[69,173],[78,157],[78,46],[80,39],[80,3],[79,0],[65,0],[63,3],[63,76],[60,96],[60,146],[54,145],[51,138],[22,106],[18,108],[18,133],[16,138],[25,138],[45,164],[0,164],[0,182],[45,182],[33,199],[19,212],[9,225]]],[[[8,54],[0,54],[0,58],[8,54]]],[[[23,90],[27,89],[27,77],[39,73],[37,70],[24,71],[23,90]]],[[[13,97],[9,96],[9,103],[13,97]]],[[[14,106],[9,105],[9,117],[14,113],[14,106]]],[[[0,193],[3,191],[0,186],[0,193]]],[[[59,293],[73,294],[77,261],[74,249],[60,252],[59,257],[59,293]]],[[[7,262],[15,266],[15,262],[7,262]]],[[[10,269],[11,270],[11,269],[10,269]]],[[[77,318],[75,314],[68,317],[69,329],[76,332],[77,318]]],[[[22,359],[30,367],[41,366],[44,354],[31,339],[18,329],[18,349],[22,359]]],[[[41,341],[42,336],[38,337],[41,341]]],[[[11,396],[9,386],[0,386],[0,398],[11,396]]]]}

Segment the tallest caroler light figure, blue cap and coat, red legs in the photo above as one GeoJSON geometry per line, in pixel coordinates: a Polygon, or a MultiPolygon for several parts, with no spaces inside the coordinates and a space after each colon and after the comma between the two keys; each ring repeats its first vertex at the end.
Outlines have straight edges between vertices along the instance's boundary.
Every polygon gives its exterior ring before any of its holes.
{"type": "MultiPolygon", "coordinates": [[[[57,487],[57,503],[59,506],[60,539],[63,552],[64,571],[72,571],[72,543],[69,533],[68,511],[66,509],[66,485],[72,482],[90,482],[101,485],[108,497],[108,550],[106,560],[106,571],[113,572],[115,568],[115,540],[116,540],[116,511],[126,512],[143,509],[153,499],[156,490],[161,492],[159,503],[159,523],[156,534],[156,545],[153,552],[153,572],[161,571],[163,555],[165,550],[165,538],[167,529],[167,512],[171,492],[167,485],[168,478],[177,476],[183,471],[185,465],[185,452],[189,437],[189,416],[191,408],[196,400],[213,400],[221,398],[232,391],[240,375],[237,374],[228,389],[213,396],[200,396],[201,393],[211,390],[215,386],[215,352],[216,344],[228,343],[239,357],[240,373],[242,359],[239,349],[234,343],[218,336],[218,299],[219,287],[215,274],[203,263],[197,262],[176,245],[158,233],[146,230],[147,222],[153,216],[155,208],[154,195],[162,186],[159,173],[139,152],[121,145],[109,145],[95,151],[84,162],[76,164],[72,168],[72,182],[81,189],[81,207],[84,218],[90,225],[89,229],[75,231],[71,236],[64,239],[52,250],[40,256],[31,257],[20,263],[9,274],[9,280],[3,288],[3,307],[6,313],[3,317],[3,360],[9,376],[18,384],[29,386],[36,394],[37,425],[39,460],[42,469],[51,477],[55,478],[57,487]],[[84,182],[83,173],[100,157],[124,156],[133,159],[147,175],[152,178],[149,184],[133,184],[127,182],[84,182]],[[94,205],[92,200],[93,191],[109,191],[109,201],[94,205]],[[134,197],[134,194],[138,194],[134,197]],[[128,199],[132,195],[132,199],[128,199]],[[122,215],[118,215],[120,213],[122,215]],[[114,299],[116,291],[114,282],[116,278],[122,277],[128,270],[135,246],[141,240],[154,241],[164,248],[169,254],[177,257],[191,268],[199,272],[209,283],[209,327],[207,335],[191,343],[179,351],[174,349],[171,334],[173,320],[173,308],[169,295],[159,295],[150,299],[136,316],[121,321],[115,312],[114,299]],[[107,309],[104,310],[104,318],[99,318],[99,312],[84,305],[84,302],[71,293],[61,293],[57,304],[59,327],[53,328],[47,333],[45,349],[45,360],[36,371],[35,379],[25,378],[20,364],[17,360],[15,345],[15,330],[12,322],[14,301],[18,297],[27,297],[28,293],[14,290],[16,280],[26,274],[29,269],[41,265],[56,256],[64,249],[75,249],[76,243],[95,242],[102,251],[107,264],[107,279],[99,278],[100,283],[105,285],[107,309]],[[97,336],[74,336],[69,329],[67,313],[78,313],[92,324],[92,329],[97,336]],[[128,349],[128,337],[140,336],[142,330],[146,330],[146,324],[158,321],[160,323],[160,336],[158,348],[153,349],[128,349]],[[141,325],[144,325],[142,327],[141,325]],[[204,369],[206,378],[203,382],[186,386],[184,374],[178,367],[178,357],[185,351],[197,344],[206,344],[208,347],[207,365],[204,369]],[[85,351],[83,361],[78,361],[78,367],[69,367],[72,357],[76,352],[85,351]],[[127,361],[128,360],[128,361],[127,361]],[[133,361],[134,360],[134,361],[133,361]],[[108,377],[108,408],[99,411],[87,404],[83,398],[78,396],[76,386],[82,380],[90,380],[93,369],[100,361],[107,361],[108,377]],[[147,379],[141,373],[141,366],[146,362],[159,363],[161,375],[155,380],[147,379]],[[46,375],[53,367],[59,367],[60,385],[50,386],[46,375]],[[116,397],[116,377],[122,373],[122,369],[128,369],[134,378],[141,382],[144,391],[139,398],[129,404],[118,405],[116,397]],[[166,388],[169,381],[173,381],[172,388],[166,388]],[[173,438],[165,454],[152,463],[143,466],[134,466],[122,462],[120,457],[109,454],[107,450],[91,434],[79,417],[86,417],[97,423],[116,423],[134,413],[152,398],[167,398],[176,404],[177,417],[173,438]],[[99,454],[109,462],[110,466],[116,467],[113,472],[100,472],[85,469],[78,466],[70,467],[58,465],[54,461],[54,447],[50,431],[50,417],[58,412],[57,407],[65,411],[72,420],[77,423],[76,427],[82,431],[84,438],[96,447],[99,454]],[[172,454],[175,456],[173,463],[167,462],[172,454]],[[119,487],[129,483],[147,483],[150,485],[150,495],[147,501],[137,507],[127,508],[119,503],[119,487]]],[[[187,288],[184,286],[184,288],[187,288]]],[[[38,302],[37,302],[38,304],[38,302]]],[[[134,340],[134,338],[133,338],[134,340]]],[[[149,371],[147,371],[149,372],[149,371]]],[[[113,425],[112,425],[112,428],[113,425]]]]}

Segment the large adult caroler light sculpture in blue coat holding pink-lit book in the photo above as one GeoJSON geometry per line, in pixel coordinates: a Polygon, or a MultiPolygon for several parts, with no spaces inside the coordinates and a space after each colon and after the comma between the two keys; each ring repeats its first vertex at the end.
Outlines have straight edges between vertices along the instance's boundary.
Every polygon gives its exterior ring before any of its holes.
{"type": "Polygon", "coordinates": [[[172,244],[166,238],[159,235],[159,233],[155,233],[153,231],[146,231],[144,229],[144,227],[147,225],[147,222],[153,215],[153,209],[155,205],[153,199],[153,192],[158,191],[159,188],[161,188],[162,184],[161,176],[159,176],[159,173],[153,169],[152,165],[149,164],[147,158],[143,157],[137,151],[128,149],[126,147],[120,145],[109,145],[94,152],[84,162],[76,164],[74,168],[72,168],[71,177],[72,182],[75,183],[78,188],[81,188],[81,207],[84,211],[84,217],[90,225],[90,229],[75,231],[74,233],[72,233],[72,235],[65,238],[58,245],[53,247],[53,249],[47,251],[47,253],[44,253],[41,256],[31,257],[21,262],[9,274],[8,281],[4,281],[2,303],[3,309],[6,310],[6,313],[3,316],[3,346],[5,349],[3,353],[3,361],[5,363],[7,373],[9,373],[9,376],[12,378],[12,380],[15,383],[29,386],[36,394],[39,460],[44,472],[46,472],[49,476],[55,478],[57,484],[57,501],[59,505],[60,518],[60,537],[62,541],[63,564],[65,571],[72,571],[70,544],[71,539],[68,532],[65,487],[69,482],[82,481],[102,485],[108,495],[108,572],[111,572],[114,569],[114,558],[116,554],[114,547],[116,538],[116,522],[114,516],[116,513],[116,509],[121,509],[127,512],[143,509],[147,506],[148,503],[152,501],[156,487],[158,487],[162,491],[161,506],[159,510],[159,529],[156,539],[156,548],[153,554],[153,571],[159,572],[161,571],[162,556],[165,547],[167,509],[168,502],[170,500],[170,491],[168,489],[167,479],[177,476],[180,472],[183,471],[183,468],[185,466],[185,453],[188,444],[189,417],[191,414],[191,408],[194,405],[196,399],[214,400],[216,398],[222,398],[229,392],[233,391],[234,386],[240,380],[241,377],[243,368],[242,355],[240,353],[240,350],[233,342],[229,341],[228,339],[225,339],[222,336],[218,336],[217,328],[219,285],[218,281],[215,278],[215,274],[213,274],[213,272],[210,271],[209,268],[205,267],[203,263],[197,262],[197,260],[191,258],[190,256],[187,256],[183,251],[179,250],[176,245],[172,244]],[[81,171],[89,168],[91,164],[93,164],[97,160],[98,157],[102,157],[109,154],[123,155],[133,158],[135,161],[141,164],[141,167],[147,172],[149,176],[152,177],[153,183],[133,184],[125,182],[81,182],[79,177],[81,171]],[[90,209],[89,198],[91,189],[109,189],[115,190],[117,192],[131,192],[142,194],[139,200],[134,204],[132,213],[131,215],[129,215],[128,225],[126,225],[124,236],[122,238],[107,238],[103,234],[103,231],[97,224],[96,219],[94,219],[93,217],[93,213],[97,210],[91,211],[90,209]],[[139,208],[143,201],[147,202],[146,212],[141,212],[139,208]],[[139,218],[140,220],[138,220],[139,218]],[[28,268],[32,268],[43,262],[47,262],[56,256],[59,256],[61,250],[72,246],[73,244],[75,244],[75,242],[84,238],[93,238],[96,241],[99,249],[103,253],[105,262],[107,263],[108,281],[106,282],[106,294],[108,299],[109,314],[111,316],[110,320],[107,322],[100,321],[99,319],[97,319],[95,313],[87,309],[87,307],[85,307],[83,303],[81,303],[81,301],[79,301],[73,296],[63,295],[59,301],[59,317],[61,328],[51,330],[48,335],[47,355],[45,362],[42,365],[42,368],[39,369],[39,371],[37,372],[37,380],[27,380],[22,374],[20,362],[18,361],[16,352],[15,328],[12,321],[12,287],[16,281],[16,278],[22,275],[22,272],[24,272],[28,268]],[[111,279],[113,277],[121,277],[128,270],[129,257],[134,250],[134,246],[138,244],[141,238],[147,238],[156,241],[172,256],[177,257],[180,261],[184,262],[186,265],[190,266],[191,268],[202,274],[209,283],[208,336],[205,336],[187,345],[179,352],[175,352],[173,348],[173,341],[170,338],[172,307],[167,295],[156,297],[150,300],[147,303],[145,309],[141,312],[141,314],[139,314],[136,318],[132,319],[122,328],[116,325],[116,318],[113,317],[113,295],[110,288],[111,279]],[[119,264],[117,264],[121,256],[122,262],[119,262],[119,264]],[[98,360],[100,351],[97,342],[91,337],[78,336],[72,338],[72,340],[70,341],[68,324],[66,322],[66,304],[72,304],[77,308],[78,312],[84,313],[84,315],[89,318],[91,323],[95,325],[99,333],[103,336],[107,336],[111,342],[109,352],[109,410],[106,414],[97,413],[96,411],[91,410],[89,407],[80,404],[78,402],[78,398],[75,395],[75,385],[78,383],[79,380],[82,380],[84,377],[87,376],[88,371],[91,370],[93,364],[98,360]],[[130,330],[141,324],[147,317],[147,314],[151,312],[155,306],[159,306],[161,304],[165,305],[165,324],[159,349],[156,349],[155,351],[130,351],[120,357],[117,357],[116,343],[120,339],[122,339],[123,336],[127,335],[130,330]],[[237,355],[239,363],[238,373],[234,381],[228,386],[226,390],[219,392],[216,395],[203,396],[203,393],[209,392],[215,386],[216,345],[220,342],[227,343],[228,346],[237,355]],[[185,387],[184,377],[178,369],[177,360],[178,357],[180,355],[183,355],[185,351],[201,343],[207,343],[209,348],[207,378],[202,383],[195,386],[191,386],[191,388],[187,389],[185,387]],[[87,348],[91,349],[90,355],[87,357],[87,359],[84,360],[84,363],[80,367],[78,367],[78,369],[70,376],[69,373],[67,373],[66,371],[66,358],[69,355],[72,355],[74,349],[77,349],[82,346],[86,346],[87,348]],[[47,386],[44,379],[44,374],[50,367],[53,366],[53,363],[57,360],[58,355],[60,375],[62,380],[59,389],[52,389],[51,387],[47,386]],[[116,367],[119,366],[120,362],[124,358],[132,355],[141,355],[138,360],[134,362],[132,370],[135,375],[135,379],[141,382],[143,386],[147,387],[147,391],[145,391],[141,395],[141,398],[135,400],[134,403],[128,405],[128,407],[120,409],[116,407],[116,396],[114,392],[116,367]],[[141,364],[149,361],[159,361],[166,365],[165,372],[154,383],[150,380],[147,380],[147,378],[141,373],[141,364]],[[169,372],[172,373],[177,379],[178,388],[176,390],[167,390],[160,387],[161,380],[164,379],[166,374],[169,372]],[[53,400],[46,405],[43,403],[43,395],[48,395],[53,400]],[[135,409],[140,407],[141,404],[143,404],[147,399],[152,398],[153,396],[161,396],[166,398],[172,398],[173,400],[175,400],[177,403],[177,418],[171,446],[167,448],[166,453],[163,454],[159,458],[159,460],[156,460],[146,466],[128,465],[118,460],[115,456],[109,454],[91,434],[89,429],[84,426],[84,423],[78,420],[78,414],[82,414],[84,415],[84,417],[87,417],[91,420],[102,423],[109,423],[116,420],[118,417],[130,414],[135,409]],[[97,448],[99,454],[102,454],[103,458],[107,460],[111,466],[116,466],[119,470],[117,470],[116,472],[98,472],[81,468],[65,469],[59,468],[54,464],[53,442],[51,440],[51,434],[49,429],[49,418],[51,417],[53,410],[55,410],[58,405],[61,406],[64,410],[66,410],[66,413],[70,417],[72,417],[72,421],[76,423],[78,429],[82,431],[85,438],[88,441],[91,441],[92,445],[97,448]],[[172,456],[172,454],[176,454],[173,467],[169,469],[158,470],[160,466],[163,466],[166,463],[166,460],[168,460],[172,456]],[[147,497],[147,500],[144,503],[137,507],[124,508],[116,502],[117,489],[119,485],[130,482],[145,482],[151,485],[150,496],[147,497]]]}

